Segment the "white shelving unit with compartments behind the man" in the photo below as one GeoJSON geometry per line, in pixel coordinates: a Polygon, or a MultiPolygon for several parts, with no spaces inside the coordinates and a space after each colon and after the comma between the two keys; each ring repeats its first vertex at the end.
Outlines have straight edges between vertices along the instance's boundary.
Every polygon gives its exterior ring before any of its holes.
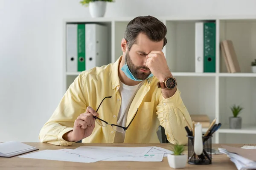
{"type": "MultiPolygon", "coordinates": [[[[134,17],[75,18],[67,23],[99,23],[108,26],[109,62],[122,55],[121,39],[125,28],[134,17]]],[[[157,17],[167,27],[167,44],[163,49],[169,68],[177,79],[183,102],[190,114],[207,114],[223,126],[214,134],[213,143],[256,143],[256,73],[251,73],[250,62],[256,58],[256,16],[157,17]],[[216,72],[195,73],[195,23],[216,23],[216,72]],[[233,41],[241,73],[227,73],[221,56],[221,40],[233,41]],[[241,104],[244,111],[242,129],[229,129],[232,116],[230,106],[241,104]]],[[[64,38],[64,91],[79,72],[66,72],[66,39],[64,38]]],[[[204,128],[204,131],[206,129],[204,128]]]]}

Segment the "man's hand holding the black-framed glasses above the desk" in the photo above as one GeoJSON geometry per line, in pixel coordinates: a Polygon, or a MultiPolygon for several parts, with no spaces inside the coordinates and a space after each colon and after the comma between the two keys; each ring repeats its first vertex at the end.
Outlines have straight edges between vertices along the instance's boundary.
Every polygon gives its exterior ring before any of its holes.
{"type": "Polygon", "coordinates": [[[65,133],[63,139],[70,142],[76,142],[90,136],[96,121],[93,116],[99,116],[99,114],[90,106],[87,107],[86,112],[81,113],[75,120],[73,130],[65,133]]]}

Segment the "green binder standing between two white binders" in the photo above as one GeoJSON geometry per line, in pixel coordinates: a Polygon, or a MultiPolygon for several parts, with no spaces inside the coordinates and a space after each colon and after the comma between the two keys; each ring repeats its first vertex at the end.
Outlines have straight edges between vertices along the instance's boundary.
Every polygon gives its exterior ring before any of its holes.
{"type": "Polygon", "coordinates": [[[77,71],[85,71],[85,25],[77,26],[77,71]]]}

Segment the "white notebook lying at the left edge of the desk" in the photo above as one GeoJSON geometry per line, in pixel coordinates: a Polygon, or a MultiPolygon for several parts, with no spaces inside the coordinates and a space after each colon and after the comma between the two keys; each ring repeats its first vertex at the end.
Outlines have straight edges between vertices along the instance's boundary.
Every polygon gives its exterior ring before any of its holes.
{"type": "Polygon", "coordinates": [[[35,150],[39,150],[39,149],[33,146],[29,146],[28,144],[24,144],[17,141],[0,143],[0,157],[17,156],[17,155],[32,152],[35,150]]]}

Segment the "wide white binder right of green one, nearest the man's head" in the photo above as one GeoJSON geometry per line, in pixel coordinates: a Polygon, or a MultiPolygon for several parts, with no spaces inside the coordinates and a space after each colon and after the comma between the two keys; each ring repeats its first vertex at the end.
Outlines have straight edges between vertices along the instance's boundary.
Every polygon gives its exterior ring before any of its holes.
{"type": "Polygon", "coordinates": [[[85,24],[85,69],[108,64],[108,28],[85,24]]]}

